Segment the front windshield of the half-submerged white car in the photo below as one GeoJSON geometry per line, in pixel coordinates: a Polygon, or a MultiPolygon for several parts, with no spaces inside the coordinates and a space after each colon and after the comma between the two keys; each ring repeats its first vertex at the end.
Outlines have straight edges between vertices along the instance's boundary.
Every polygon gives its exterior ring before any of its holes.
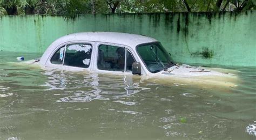
{"type": "Polygon", "coordinates": [[[139,45],[137,51],[147,69],[152,73],[166,70],[174,65],[160,42],[139,45]]]}

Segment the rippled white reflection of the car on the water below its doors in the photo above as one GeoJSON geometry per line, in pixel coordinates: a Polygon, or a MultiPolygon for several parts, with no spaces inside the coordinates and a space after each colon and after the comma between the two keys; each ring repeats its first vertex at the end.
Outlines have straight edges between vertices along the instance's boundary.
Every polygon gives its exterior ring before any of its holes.
{"type": "Polygon", "coordinates": [[[40,85],[47,88],[45,91],[59,90],[63,93],[55,95],[68,95],[57,102],[117,100],[143,90],[150,90],[148,87],[140,86],[140,83],[143,83],[140,79],[133,79],[133,76],[127,75],[105,76],[98,73],[81,74],[64,71],[44,71],[42,74],[48,78],[45,84],[40,85]]]}

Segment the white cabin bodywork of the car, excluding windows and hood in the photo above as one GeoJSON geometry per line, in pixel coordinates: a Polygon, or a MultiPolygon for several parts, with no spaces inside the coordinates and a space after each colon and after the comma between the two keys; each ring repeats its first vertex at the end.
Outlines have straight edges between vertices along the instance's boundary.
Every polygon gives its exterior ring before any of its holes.
{"type": "Polygon", "coordinates": [[[143,62],[140,60],[139,55],[136,53],[136,46],[149,43],[149,42],[157,42],[156,39],[149,38],[142,35],[135,34],[127,34],[127,33],[114,33],[114,32],[85,32],[85,33],[75,33],[63,36],[62,38],[57,39],[53,42],[48,49],[44,52],[43,56],[40,59],[39,64],[42,68],[46,69],[63,69],[63,70],[71,70],[71,71],[98,71],[98,72],[111,72],[111,73],[131,73],[131,72],[122,72],[122,71],[106,71],[99,70],[97,68],[97,54],[99,45],[113,45],[118,47],[125,47],[131,51],[135,60],[142,64],[142,75],[152,75],[145,66],[143,66],[143,62]],[[64,45],[68,45],[70,43],[90,43],[92,44],[92,57],[91,64],[89,68],[78,68],[78,67],[70,67],[65,65],[56,65],[50,62],[50,58],[53,56],[55,51],[57,51],[60,47],[64,45]]]}

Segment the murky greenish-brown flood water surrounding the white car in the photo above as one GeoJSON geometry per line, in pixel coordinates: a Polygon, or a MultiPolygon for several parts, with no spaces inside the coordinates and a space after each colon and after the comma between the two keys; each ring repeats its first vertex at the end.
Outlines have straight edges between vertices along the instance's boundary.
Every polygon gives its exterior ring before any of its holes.
{"type": "Polygon", "coordinates": [[[45,71],[0,51],[0,139],[256,139],[256,68],[227,90],[45,71]]]}

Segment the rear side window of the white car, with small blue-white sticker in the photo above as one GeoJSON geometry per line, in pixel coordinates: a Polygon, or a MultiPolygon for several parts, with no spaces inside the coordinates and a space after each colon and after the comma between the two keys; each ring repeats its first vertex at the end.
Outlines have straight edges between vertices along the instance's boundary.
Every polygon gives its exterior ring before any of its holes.
{"type": "Polygon", "coordinates": [[[46,67],[53,69],[84,71],[91,70],[95,42],[68,42],[56,47],[46,67]]]}

